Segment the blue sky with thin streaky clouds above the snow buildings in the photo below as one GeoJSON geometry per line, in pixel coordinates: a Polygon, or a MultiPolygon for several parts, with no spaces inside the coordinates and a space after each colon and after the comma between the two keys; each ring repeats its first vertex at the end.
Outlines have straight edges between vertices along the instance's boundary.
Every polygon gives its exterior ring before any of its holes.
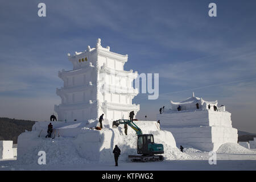
{"type": "Polygon", "coordinates": [[[159,73],[159,98],[139,94],[138,118],[195,92],[218,100],[233,126],[256,133],[255,1],[1,1],[0,117],[45,121],[60,103],[67,53],[97,38],[128,54],[125,70],[159,73]],[[47,16],[39,18],[38,3],[47,16]],[[208,5],[217,4],[217,17],[208,5]]]}

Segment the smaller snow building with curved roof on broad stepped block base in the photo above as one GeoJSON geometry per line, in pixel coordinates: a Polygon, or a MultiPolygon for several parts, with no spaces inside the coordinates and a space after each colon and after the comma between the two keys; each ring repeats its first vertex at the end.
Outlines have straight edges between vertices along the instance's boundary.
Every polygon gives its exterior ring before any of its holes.
{"type": "Polygon", "coordinates": [[[237,143],[237,129],[232,127],[231,113],[217,104],[217,101],[204,101],[194,94],[185,101],[171,101],[171,109],[158,114],[161,128],[171,131],[178,146],[192,146],[202,151],[216,151],[223,143],[237,143]],[[180,111],[177,110],[179,106],[180,111]],[[216,111],[213,106],[217,107],[216,111]]]}

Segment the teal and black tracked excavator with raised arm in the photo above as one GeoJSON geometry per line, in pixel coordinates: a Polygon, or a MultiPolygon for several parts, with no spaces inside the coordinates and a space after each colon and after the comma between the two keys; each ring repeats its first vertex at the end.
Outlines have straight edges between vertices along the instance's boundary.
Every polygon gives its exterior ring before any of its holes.
{"type": "Polygon", "coordinates": [[[128,119],[118,119],[113,121],[113,128],[118,127],[120,124],[129,125],[137,133],[137,154],[141,155],[129,155],[128,158],[132,162],[141,161],[162,161],[164,157],[162,155],[155,154],[164,154],[163,144],[158,144],[154,142],[154,135],[152,134],[142,134],[141,129],[135,125],[134,122],[131,122],[128,119]]]}

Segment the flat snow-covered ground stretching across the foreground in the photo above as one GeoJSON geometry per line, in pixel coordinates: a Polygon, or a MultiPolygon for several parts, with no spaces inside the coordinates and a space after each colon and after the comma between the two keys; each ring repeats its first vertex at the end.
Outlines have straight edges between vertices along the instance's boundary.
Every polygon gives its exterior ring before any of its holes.
{"type": "MultiPolygon", "coordinates": [[[[186,149],[186,148],[185,148],[186,149]]],[[[189,160],[164,160],[163,162],[113,162],[69,165],[22,165],[12,160],[0,160],[0,170],[92,170],[92,171],[166,171],[166,170],[256,170],[256,154],[217,154],[217,164],[208,163],[209,153],[196,151],[186,152],[189,160]]],[[[256,152],[255,149],[251,150],[256,152]]]]}

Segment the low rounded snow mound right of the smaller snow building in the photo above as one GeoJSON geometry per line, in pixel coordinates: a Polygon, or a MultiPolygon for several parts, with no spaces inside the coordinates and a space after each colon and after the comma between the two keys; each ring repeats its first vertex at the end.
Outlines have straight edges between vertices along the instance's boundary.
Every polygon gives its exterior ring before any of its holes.
{"type": "Polygon", "coordinates": [[[218,154],[256,154],[245,147],[240,146],[237,143],[224,143],[218,148],[218,154]]]}

